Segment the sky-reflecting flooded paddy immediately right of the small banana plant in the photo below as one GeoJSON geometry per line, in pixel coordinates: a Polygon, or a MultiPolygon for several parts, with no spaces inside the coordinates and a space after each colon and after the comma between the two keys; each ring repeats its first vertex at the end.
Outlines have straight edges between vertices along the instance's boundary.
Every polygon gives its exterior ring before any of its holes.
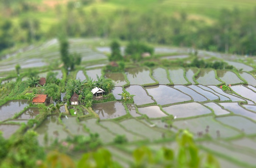
{"type": "Polygon", "coordinates": [[[125,88],[130,94],[135,95],[133,97],[134,103],[137,105],[153,103],[154,100],[151,99],[149,95],[147,95],[146,90],[143,89],[142,86],[139,85],[131,85],[125,88]]]}

